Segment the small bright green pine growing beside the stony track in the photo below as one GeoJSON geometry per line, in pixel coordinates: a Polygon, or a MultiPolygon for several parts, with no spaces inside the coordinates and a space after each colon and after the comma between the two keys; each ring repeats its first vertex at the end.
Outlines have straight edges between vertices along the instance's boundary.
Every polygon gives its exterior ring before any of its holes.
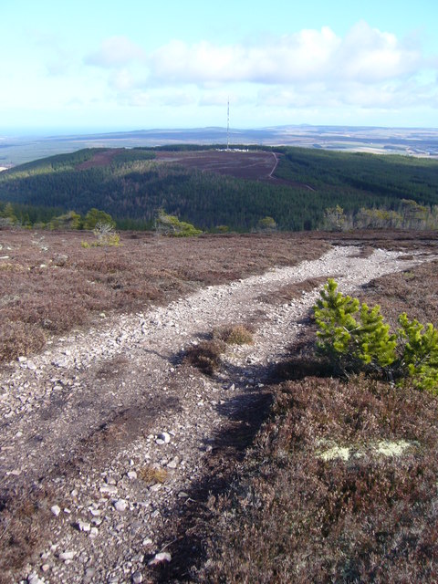
{"type": "Polygon", "coordinates": [[[342,295],[333,279],[321,290],[314,312],[317,347],[339,372],[377,370],[438,394],[438,330],[433,324],[424,327],[403,313],[397,334],[390,334],[378,305],[369,308],[342,295]]]}

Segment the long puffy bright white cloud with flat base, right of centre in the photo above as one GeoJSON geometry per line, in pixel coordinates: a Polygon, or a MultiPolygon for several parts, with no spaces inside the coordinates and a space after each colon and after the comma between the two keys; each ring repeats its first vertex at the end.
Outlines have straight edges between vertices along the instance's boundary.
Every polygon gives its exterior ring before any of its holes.
{"type": "Polygon", "coordinates": [[[188,45],[173,40],[148,57],[160,83],[297,83],[340,79],[377,82],[412,75],[422,64],[419,47],[360,22],[347,36],[328,26],[270,39],[263,45],[188,45]]]}

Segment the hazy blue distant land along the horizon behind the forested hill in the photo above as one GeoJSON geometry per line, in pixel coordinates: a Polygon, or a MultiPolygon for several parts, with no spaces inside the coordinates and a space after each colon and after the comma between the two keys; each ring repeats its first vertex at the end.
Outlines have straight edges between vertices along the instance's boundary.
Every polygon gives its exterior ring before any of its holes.
{"type": "Polygon", "coordinates": [[[189,128],[112,131],[14,138],[0,135],[0,166],[15,166],[84,148],[151,148],[173,144],[300,146],[323,150],[370,151],[438,157],[438,130],[366,126],[273,126],[257,129],[189,128]]]}

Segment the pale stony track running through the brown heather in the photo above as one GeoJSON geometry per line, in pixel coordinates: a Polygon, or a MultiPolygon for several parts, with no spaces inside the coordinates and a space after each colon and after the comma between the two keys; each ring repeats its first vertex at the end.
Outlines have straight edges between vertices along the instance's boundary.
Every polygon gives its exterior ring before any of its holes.
{"type": "Polygon", "coordinates": [[[349,292],[424,261],[357,252],[334,247],[317,261],[109,319],[5,370],[2,494],[44,491],[41,528],[48,530],[46,545],[19,577],[33,584],[149,581],[147,560],[168,553],[158,542],[200,478],[215,434],[262,391],[266,366],[281,358],[318,290],[282,306],[260,295],[315,276],[336,276],[349,292]],[[242,321],[256,323],[255,345],[230,349],[229,367],[218,377],[178,360],[212,328],[242,321]]]}

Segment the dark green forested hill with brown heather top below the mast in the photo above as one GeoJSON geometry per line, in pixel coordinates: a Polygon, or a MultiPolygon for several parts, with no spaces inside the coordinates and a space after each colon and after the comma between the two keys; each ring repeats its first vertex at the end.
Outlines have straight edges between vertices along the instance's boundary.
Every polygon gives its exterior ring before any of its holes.
{"type": "Polygon", "coordinates": [[[397,211],[403,199],[438,204],[438,161],[260,150],[266,156],[259,157],[265,166],[258,175],[254,148],[86,149],[53,156],[0,173],[0,212],[2,204],[13,203],[16,213],[26,209],[35,223],[59,211],[85,214],[96,207],[119,228],[147,228],[164,208],[203,229],[246,231],[269,216],[280,229],[301,230],[318,228],[324,210],[336,205],[354,214],[361,207],[397,211]],[[275,168],[271,177],[269,164],[275,168]]]}

